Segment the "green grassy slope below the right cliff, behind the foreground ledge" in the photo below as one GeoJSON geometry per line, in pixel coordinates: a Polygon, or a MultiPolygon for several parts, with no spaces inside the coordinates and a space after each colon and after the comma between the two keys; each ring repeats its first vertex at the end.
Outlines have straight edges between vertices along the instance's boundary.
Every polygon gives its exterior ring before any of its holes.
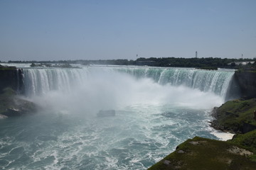
{"type": "Polygon", "coordinates": [[[246,101],[228,101],[216,110],[216,120],[213,120],[212,126],[230,132],[244,132],[245,125],[256,128],[255,110],[255,98],[246,101]]]}

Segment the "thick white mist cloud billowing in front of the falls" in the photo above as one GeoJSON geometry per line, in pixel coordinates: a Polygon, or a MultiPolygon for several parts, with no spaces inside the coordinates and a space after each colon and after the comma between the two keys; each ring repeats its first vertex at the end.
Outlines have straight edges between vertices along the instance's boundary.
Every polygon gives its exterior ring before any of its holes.
{"type": "MultiPolygon", "coordinates": [[[[74,83],[74,82],[73,82],[74,83]]],[[[120,109],[133,105],[162,106],[165,104],[209,109],[220,106],[223,98],[186,86],[157,84],[152,79],[135,79],[118,72],[97,72],[84,84],[74,84],[72,91],[46,91],[33,96],[43,108],[59,113],[95,114],[99,110],[120,109]]]]}

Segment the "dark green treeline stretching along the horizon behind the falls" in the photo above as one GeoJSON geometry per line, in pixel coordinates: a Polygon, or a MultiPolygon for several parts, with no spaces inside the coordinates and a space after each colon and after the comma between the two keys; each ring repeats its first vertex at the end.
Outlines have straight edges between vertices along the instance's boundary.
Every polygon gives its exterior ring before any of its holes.
{"type": "Polygon", "coordinates": [[[229,59],[229,58],[176,58],[176,57],[140,57],[137,60],[58,60],[58,61],[9,61],[9,63],[62,63],[62,64],[110,64],[110,65],[147,65],[154,67],[198,67],[198,68],[235,68],[242,65],[242,62],[246,64],[255,65],[256,58],[240,58],[240,59],[229,59]],[[240,63],[239,63],[240,62],[240,63]]]}

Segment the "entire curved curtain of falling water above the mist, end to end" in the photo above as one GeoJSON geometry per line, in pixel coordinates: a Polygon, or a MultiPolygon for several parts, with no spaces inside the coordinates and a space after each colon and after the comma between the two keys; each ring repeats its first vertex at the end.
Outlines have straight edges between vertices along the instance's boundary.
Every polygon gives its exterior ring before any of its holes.
{"type": "Polygon", "coordinates": [[[149,78],[161,85],[187,86],[204,92],[213,92],[225,98],[234,72],[230,70],[201,70],[161,67],[83,67],[26,68],[23,69],[27,96],[46,94],[48,91],[72,91],[75,84],[86,84],[96,72],[119,72],[137,79],[149,78]]]}

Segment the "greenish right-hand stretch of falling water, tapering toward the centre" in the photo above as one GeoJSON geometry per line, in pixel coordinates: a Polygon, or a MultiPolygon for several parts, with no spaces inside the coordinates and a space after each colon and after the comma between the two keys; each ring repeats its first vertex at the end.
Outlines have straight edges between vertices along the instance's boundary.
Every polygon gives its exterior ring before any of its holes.
{"type": "Polygon", "coordinates": [[[232,70],[201,70],[192,68],[159,68],[159,67],[129,67],[120,68],[120,72],[127,72],[137,78],[148,77],[159,84],[171,86],[187,86],[204,92],[213,92],[225,98],[230,81],[233,77],[232,70]]]}

